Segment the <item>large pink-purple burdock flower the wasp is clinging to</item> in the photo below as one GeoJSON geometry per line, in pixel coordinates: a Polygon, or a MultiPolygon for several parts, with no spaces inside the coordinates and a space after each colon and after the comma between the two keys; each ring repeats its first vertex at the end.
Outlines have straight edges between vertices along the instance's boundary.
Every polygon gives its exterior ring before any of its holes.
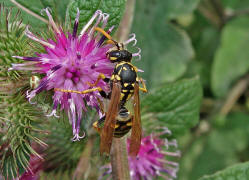
{"type": "MultiPolygon", "coordinates": [[[[110,77],[114,69],[112,64],[106,57],[106,52],[113,47],[110,44],[103,44],[105,37],[95,31],[95,27],[100,26],[102,29],[106,27],[109,15],[97,10],[88,23],[78,33],[79,15],[74,22],[73,32],[65,33],[61,27],[58,27],[49,9],[44,9],[49,19],[49,25],[54,32],[54,39],[44,40],[35,36],[27,26],[25,34],[30,39],[40,43],[45,53],[36,53],[36,57],[20,57],[13,56],[18,59],[28,61],[22,64],[12,64],[10,70],[30,70],[45,75],[41,79],[39,86],[27,92],[27,98],[31,100],[41,91],[54,89],[84,91],[92,87],[88,82],[94,83],[100,73],[106,77],[110,77]]],[[[111,27],[107,33],[111,33],[111,27]]],[[[124,45],[134,42],[136,44],[135,34],[124,42],[124,45]]],[[[140,57],[140,51],[134,53],[133,56],[140,57]]],[[[100,81],[98,86],[108,91],[104,81],[100,81]]],[[[55,91],[53,95],[53,110],[48,116],[55,116],[56,110],[60,106],[61,110],[65,110],[68,114],[69,121],[73,129],[73,141],[80,140],[83,136],[79,135],[80,123],[82,115],[87,111],[86,106],[96,108],[99,111],[98,99],[101,100],[99,92],[91,92],[88,94],[78,94],[70,92],[55,91]]]]}

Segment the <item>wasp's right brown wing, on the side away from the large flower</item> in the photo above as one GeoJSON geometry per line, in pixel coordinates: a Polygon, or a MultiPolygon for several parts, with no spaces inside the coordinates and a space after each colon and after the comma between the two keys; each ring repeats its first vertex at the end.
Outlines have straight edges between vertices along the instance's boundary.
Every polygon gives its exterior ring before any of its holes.
{"type": "Polygon", "coordinates": [[[141,116],[140,116],[140,101],[139,101],[139,85],[134,86],[134,116],[132,118],[132,132],[130,141],[130,156],[136,156],[140,149],[142,138],[141,116]]]}

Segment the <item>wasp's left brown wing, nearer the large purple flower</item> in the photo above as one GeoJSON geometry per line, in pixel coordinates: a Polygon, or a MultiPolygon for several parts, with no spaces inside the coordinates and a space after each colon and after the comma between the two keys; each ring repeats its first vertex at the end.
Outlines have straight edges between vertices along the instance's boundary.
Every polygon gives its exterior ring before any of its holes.
{"type": "Polygon", "coordinates": [[[116,116],[119,111],[120,103],[120,84],[113,82],[112,95],[109,103],[108,111],[103,129],[101,130],[100,153],[110,154],[112,138],[115,130],[116,116]]]}

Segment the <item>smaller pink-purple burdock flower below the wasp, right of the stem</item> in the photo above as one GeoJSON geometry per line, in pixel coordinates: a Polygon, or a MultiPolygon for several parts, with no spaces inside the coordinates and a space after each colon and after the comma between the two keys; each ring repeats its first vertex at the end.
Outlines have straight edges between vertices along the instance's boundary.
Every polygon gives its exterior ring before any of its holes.
{"type": "MultiPolygon", "coordinates": [[[[171,134],[168,129],[164,129],[163,133],[151,134],[142,138],[138,155],[128,157],[132,180],[152,180],[159,176],[166,180],[176,178],[178,163],[169,160],[169,157],[179,157],[180,151],[176,150],[176,140],[169,141],[167,138],[160,138],[165,133],[171,134]]],[[[127,148],[129,149],[129,140],[127,148]]],[[[103,169],[105,172],[102,177],[109,176],[111,166],[106,165],[103,169]]]]}

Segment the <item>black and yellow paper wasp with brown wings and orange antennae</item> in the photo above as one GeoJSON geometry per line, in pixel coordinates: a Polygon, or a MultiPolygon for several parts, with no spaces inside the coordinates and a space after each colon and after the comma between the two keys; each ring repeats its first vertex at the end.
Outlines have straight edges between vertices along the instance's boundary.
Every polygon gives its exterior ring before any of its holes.
{"type": "Polygon", "coordinates": [[[96,27],[95,30],[101,32],[108,39],[107,43],[114,44],[117,47],[117,50],[111,50],[106,54],[112,63],[116,63],[111,78],[99,74],[94,84],[88,82],[94,88],[85,91],[63,89],[55,89],[55,91],[80,94],[99,91],[103,98],[110,99],[105,116],[93,125],[101,134],[100,152],[109,154],[113,136],[122,137],[132,128],[129,154],[136,156],[139,152],[142,137],[139,90],[147,92],[147,89],[143,80],[137,76],[137,68],[131,64],[132,53],[124,49],[122,43],[113,40],[103,29],[96,27]],[[109,83],[111,88],[109,93],[97,86],[100,80],[109,83]],[[142,88],[139,87],[139,82],[142,83],[142,88]],[[126,102],[131,97],[133,97],[134,108],[134,115],[132,116],[125,107],[126,102]],[[103,122],[104,126],[102,127],[103,122]]]}

